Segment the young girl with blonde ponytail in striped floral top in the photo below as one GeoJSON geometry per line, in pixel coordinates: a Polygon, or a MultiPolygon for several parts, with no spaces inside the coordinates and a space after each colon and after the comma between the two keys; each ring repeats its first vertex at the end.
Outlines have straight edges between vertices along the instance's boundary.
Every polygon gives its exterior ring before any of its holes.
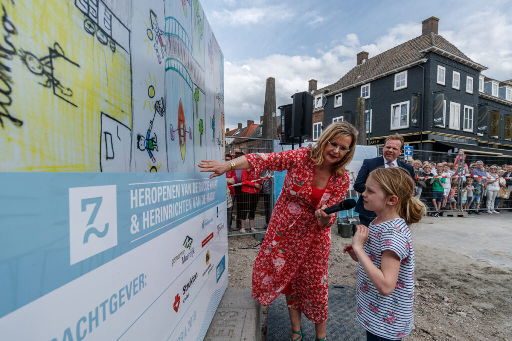
{"type": "Polygon", "coordinates": [[[413,197],[414,181],[400,167],[377,168],[362,193],[365,208],[377,218],[357,225],[345,246],[357,269],[357,320],[367,340],[400,340],[414,323],[414,247],[409,224],[418,222],[425,206],[413,197]]]}

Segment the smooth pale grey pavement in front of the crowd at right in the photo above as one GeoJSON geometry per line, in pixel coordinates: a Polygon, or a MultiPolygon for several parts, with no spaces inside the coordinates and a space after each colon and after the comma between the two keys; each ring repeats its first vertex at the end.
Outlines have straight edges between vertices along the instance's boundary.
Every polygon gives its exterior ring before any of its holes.
{"type": "Polygon", "coordinates": [[[467,217],[425,217],[412,228],[416,244],[429,245],[512,268],[512,212],[467,217]]]}

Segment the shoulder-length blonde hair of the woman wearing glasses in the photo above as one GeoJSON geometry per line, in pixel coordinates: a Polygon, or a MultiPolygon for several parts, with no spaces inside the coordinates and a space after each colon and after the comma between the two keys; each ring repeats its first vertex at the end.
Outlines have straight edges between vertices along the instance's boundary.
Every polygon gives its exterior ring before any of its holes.
{"type": "Polygon", "coordinates": [[[324,150],[327,147],[329,141],[336,141],[350,136],[352,143],[350,144],[349,151],[343,156],[342,160],[335,163],[333,172],[337,174],[345,173],[345,166],[347,166],[354,157],[355,146],[357,144],[357,135],[359,132],[357,129],[348,122],[335,122],[332,123],[322,132],[322,135],[316,144],[310,144],[308,151],[309,157],[313,160],[315,165],[321,165],[324,163],[324,150]]]}

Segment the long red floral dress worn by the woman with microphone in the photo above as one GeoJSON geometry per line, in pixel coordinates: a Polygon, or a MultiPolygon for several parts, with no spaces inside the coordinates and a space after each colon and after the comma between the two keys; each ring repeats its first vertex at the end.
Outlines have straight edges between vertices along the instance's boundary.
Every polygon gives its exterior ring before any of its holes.
{"type": "Polygon", "coordinates": [[[322,199],[313,207],[315,165],[307,152],[303,147],[245,155],[255,174],[267,169],[288,170],[252,270],[252,297],[269,305],[290,285],[290,306],[320,323],[327,319],[330,227],[335,217],[321,227],[314,212],[324,204],[332,206],[345,199],[350,181],[346,173],[331,175],[322,199]]]}

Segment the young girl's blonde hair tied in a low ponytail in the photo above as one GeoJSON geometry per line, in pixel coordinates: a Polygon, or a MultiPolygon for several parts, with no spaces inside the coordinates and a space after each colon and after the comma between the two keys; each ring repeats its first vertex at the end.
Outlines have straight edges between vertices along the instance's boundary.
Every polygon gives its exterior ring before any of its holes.
{"type": "Polygon", "coordinates": [[[412,224],[421,220],[426,213],[426,207],[414,197],[414,180],[411,174],[401,167],[377,168],[369,175],[388,195],[396,195],[396,212],[412,224]]]}

